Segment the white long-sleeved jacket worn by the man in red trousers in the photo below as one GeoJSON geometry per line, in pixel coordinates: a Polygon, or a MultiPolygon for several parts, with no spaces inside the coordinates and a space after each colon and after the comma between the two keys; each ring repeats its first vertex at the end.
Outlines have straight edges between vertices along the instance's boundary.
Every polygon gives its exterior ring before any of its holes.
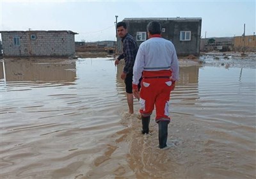
{"type": "Polygon", "coordinates": [[[171,70],[172,79],[179,79],[179,62],[173,43],[161,37],[152,37],[139,47],[133,66],[132,84],[138,85],[143,71],[159,75],[162,70],[171,70]]]}

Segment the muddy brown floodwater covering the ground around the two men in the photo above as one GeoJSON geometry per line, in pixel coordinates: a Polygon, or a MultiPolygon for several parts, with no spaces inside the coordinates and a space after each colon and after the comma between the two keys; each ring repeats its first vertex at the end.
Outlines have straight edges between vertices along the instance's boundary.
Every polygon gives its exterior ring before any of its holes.
{"type": "Polygon", "coordinates": [[[113,60],[0,61],[0,178],[255,178],[256,60],[202,59],[180,66],[164,150],[113,60]]]}

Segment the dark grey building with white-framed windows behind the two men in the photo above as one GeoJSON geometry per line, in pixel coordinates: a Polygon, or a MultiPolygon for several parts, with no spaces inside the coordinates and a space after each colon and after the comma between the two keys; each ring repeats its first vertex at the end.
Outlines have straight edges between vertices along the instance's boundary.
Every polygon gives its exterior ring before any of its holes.
{"type": "MultiPolygon", "coordinates": [[[[147,24],[157,20],[162,26],[163,38],[170,40],[178,56],[200,54],[200,36],[202,18],[125,18],[129,34],[140,45],[147,40],[147,24]]],[[[120,38],[118,38],[120,44],[120,38]]],[[[118,50],[121,51],[121,47],[118,50]]]]}

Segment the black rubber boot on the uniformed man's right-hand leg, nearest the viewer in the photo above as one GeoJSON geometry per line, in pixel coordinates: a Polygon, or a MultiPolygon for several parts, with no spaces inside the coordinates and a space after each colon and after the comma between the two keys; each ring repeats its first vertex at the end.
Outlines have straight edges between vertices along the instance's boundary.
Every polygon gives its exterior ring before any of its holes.
{"type": "Polygon", "coordinates": [[[159,121],[158,123],[159,148],[164,148],[167,146],[168,123],[169,121],[159,121]]]}

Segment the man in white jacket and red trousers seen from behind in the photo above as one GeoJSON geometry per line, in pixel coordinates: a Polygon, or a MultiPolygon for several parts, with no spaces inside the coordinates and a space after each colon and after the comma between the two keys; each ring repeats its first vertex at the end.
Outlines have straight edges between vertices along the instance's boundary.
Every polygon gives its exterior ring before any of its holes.
{"type": "Polygon", "coordinates": [[[138,96],[142,74],[140,113],[142,133],[148,134],[150,115],[156,105],[156,122],[159,126],[159,148],[166,147],[168,135],[170,92],[179,79],[179,62],[172,42],[161,37],[161,24],[152,21],[147,25],[149,39],[141,43],[135,59],[132,92],[138,96]]]}

